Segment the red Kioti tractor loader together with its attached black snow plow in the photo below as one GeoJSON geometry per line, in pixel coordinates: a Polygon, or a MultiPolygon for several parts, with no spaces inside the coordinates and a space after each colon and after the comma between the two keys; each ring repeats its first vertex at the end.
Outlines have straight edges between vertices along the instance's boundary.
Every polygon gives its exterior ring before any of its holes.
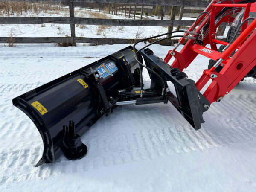
{"type": "Polygon", "coordinates": [[[212,0],[188,30],[151,37],[184,33],[151,43],[180,37],[164,60],[148,48],[151,44],[135,48],[138,42],[151,39],[146,38],[14,98],[13,105],[35,123],[44,142],[43,156],[36,166],[53,163],[62,154],[70,160],[84,157],[87,146],[81,143],[80,136],[119,105],[171,102],[195,130],[200,129],[203,113],[212,102],[221,102],[244,77],[256,78],[255,2],[212,0]],[[227,39],[220,41],[216,29],[227,24],[230,25],[227,39]],[[177,52],[185,40],[185,46],[177,52]],[[217,45],[221,45],[219,49],[217,45]],[[208,69],[195,82],[183,70],[198,54],[210,60],[208,69]],[[172,57],[175,60],[169,64],[172,57]],[[143,88],[143,68],[151,78],[148,89],[143,88]],[[175,95],[167,81],[174,84],[175,95]],[[211,83],[203,92],[208,81],[211,83]]]}

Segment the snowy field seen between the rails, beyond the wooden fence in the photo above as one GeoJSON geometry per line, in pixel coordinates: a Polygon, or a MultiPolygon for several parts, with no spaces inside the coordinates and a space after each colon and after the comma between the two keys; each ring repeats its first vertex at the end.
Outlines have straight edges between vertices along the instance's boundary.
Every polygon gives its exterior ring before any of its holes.
{"type": "MultiPolygon", "coordinates": [[[[75,17],[91,17],[90,11],[76,10],[75,17]]],[[[98,12],[95,12],[98,13],[98,12]]],[[[11,15],[20,17],[68,17],[69,12],[65,11],[49,11],[47,13],[24,13],[23,15],[11,15]]],[[[113,19],[129,19],[121,15],[105,14],[107,18],[113,19]]],[[[133,15],[131,15],[131,18],[133,15]]],[[[151,17],[151,19],[158,19],[157,16],[151,17]]],[[[136,18],[138,19],[138,18],[136,18]]],[[[166,20],[166,18],[163,18],[166,20]]],[[[195,20],[195,18],[183,17],[183,20],[195,20]]],[[[76,25],[77,37],[88,38],[135,38],[137,32],[140,32],[140,38],[146,38],[152,35],[159,35],[168,31],[167,27],[162,26],[106,26],[106,29],[99,33],[99,26],[95,25],[76,25]]],[[[8,37],[8,34],[12,32],[15,37],[65,37],[70,36],[69,24],[44,24],[44,27],[39,24],[31,25],[0,25],[1,32],[0,37],[8,37]]],[[[176,27],[174,27],[174,30],[176,27]]],[[[183,35],[183,33],[177,33],[175,35],[183,35]]],[[[138,37],[137,37],[138,38],[138,37]]]]}

